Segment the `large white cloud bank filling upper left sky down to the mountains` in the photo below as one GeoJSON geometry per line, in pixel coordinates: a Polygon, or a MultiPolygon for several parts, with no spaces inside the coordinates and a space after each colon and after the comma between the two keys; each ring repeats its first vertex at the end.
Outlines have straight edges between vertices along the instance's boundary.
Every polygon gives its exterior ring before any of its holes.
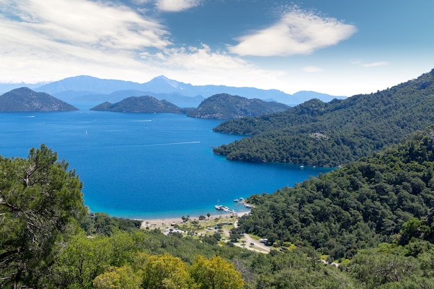
{"type": "Polygon", "coordinates": [[[84,74],[145,82],[164,74],[202,85],[261,86],[266,80],[266,87],[273,88],[275,75],[281,74],[211,51],[205,44],[175,47],[158,21],[124,6],[85,0],[6,1],[0,0],[0,10],[8,8],[0,14],[0,82],[84,74]]]}

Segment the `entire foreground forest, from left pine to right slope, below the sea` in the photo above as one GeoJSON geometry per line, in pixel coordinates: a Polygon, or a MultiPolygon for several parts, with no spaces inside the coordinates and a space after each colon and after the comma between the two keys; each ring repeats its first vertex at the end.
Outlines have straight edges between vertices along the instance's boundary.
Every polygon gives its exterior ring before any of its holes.
{"type": "Polygon", "coordinates": [[[46,146],[0,157],[1,288],[434,288],[434,129],[295,188],[253,195],[233,235],[162,234],[89,214],[46,146]]]}

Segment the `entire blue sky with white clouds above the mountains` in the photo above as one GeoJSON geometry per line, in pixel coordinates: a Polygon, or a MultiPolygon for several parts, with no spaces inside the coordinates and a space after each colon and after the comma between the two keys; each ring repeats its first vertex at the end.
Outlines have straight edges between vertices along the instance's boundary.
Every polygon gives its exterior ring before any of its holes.
{"type": "Polygon", "coordinates": [[[370,94],[434,68],[433,0],[0,0],[0,82],[370,94]]]}

